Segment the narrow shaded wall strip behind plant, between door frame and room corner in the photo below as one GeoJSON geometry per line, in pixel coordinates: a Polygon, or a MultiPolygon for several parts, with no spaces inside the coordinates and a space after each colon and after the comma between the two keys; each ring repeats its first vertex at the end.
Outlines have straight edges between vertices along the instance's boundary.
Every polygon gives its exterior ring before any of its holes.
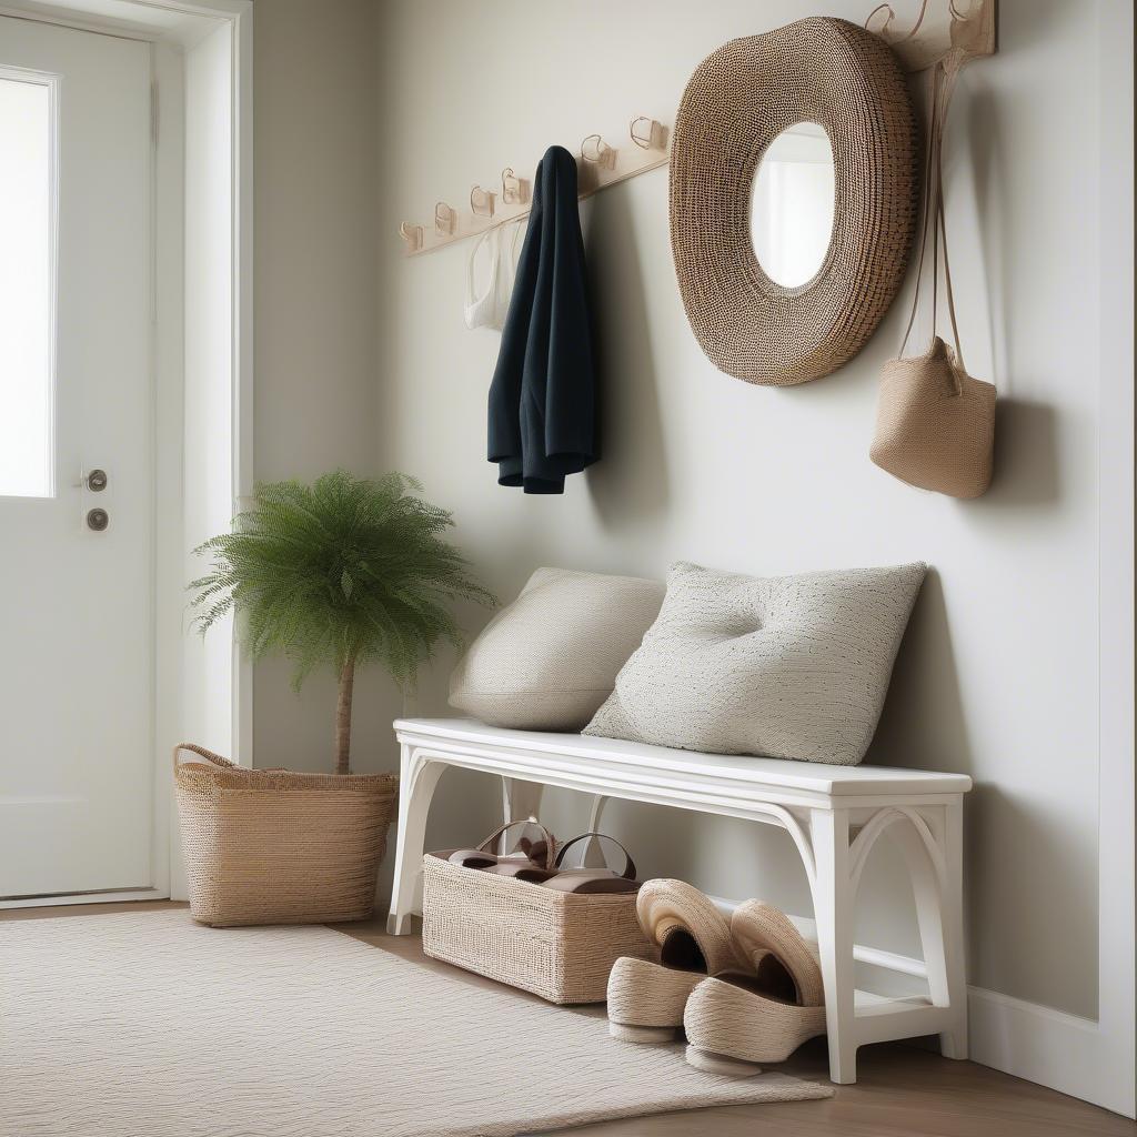
{"type": "MultiPolygon", "coordinates": [[[[256,476],[376,472],[377,7],[262,0],[254,15],[256,476]]],[[[256,669],[256,763],[331,770],[334,680],[297,696],[290,675],[284,661],[256,669]]],[[[390,756],[390,715],[371,709],[385,686],[356,682],[360,770],[390,756]]]]}

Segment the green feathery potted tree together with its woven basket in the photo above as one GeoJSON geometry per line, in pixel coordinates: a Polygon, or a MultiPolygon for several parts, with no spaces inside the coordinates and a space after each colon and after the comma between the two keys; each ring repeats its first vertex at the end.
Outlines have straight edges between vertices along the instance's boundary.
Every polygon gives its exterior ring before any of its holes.
{"type": "Polygon", "coordinates": [[[413,684],[440,644],[460,645],[450,605],[493,603],[443,537],[450,514],[421,492],[397,473],[262,484],[232,532],[197,549],[211,558],[190,584],[202,633],[233,612],[252,658],[292,659],[296,689],[317,667],[339,679],[334,775],[238,770],[200,747],[186,748],[206,764],[175,763],[191,908],[202,922],[371,914],[397,779],[350,773],[356,673],[379,664],[413,684]]]}

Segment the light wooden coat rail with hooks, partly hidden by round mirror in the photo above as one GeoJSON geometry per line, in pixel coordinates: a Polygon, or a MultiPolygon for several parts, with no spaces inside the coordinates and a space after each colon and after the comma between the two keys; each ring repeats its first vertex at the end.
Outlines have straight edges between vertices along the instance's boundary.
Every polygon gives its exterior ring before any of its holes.
{"type": "MultiPolygon", "coordinates": [[[[915,15],[901,19],[893,5],[880,3],[869,14],[865,27],[893,48],[910,74],[945,60],[951,85],[965,64],[996,51],[997,5],[998,0],[913,0],[908,7],[918,7],[915,15]]],[[[599,134],[589,134],[579,148],[581,199],[665,166],[670,135],[667,126],[645,115],[631,121],[628,139],[620,146],[611,146],[599,134]]],[[[462,208],[438,201],[430,223],[405,221],[399,226],[404,254],[415,257],[433,252],[526,217],[531,193],[531,183],[506,166],[500,185],[495,184],[493,189],[474,185],[468,204],[464,202],[462,208]]]]}

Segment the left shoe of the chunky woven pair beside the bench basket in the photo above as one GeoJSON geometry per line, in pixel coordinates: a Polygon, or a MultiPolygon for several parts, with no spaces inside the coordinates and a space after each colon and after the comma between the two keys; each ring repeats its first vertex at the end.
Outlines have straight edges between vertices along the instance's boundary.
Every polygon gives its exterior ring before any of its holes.
{"type": "Polygon", "coordinates": [[[608,976],[608,1032],[626,1041],[671,1041],[688,997],[708,974],[749,969],[722,913],[681,880],[644,883],[636,913],[644,935],[659,946],[659,962],[616,960],[608,976]]]}

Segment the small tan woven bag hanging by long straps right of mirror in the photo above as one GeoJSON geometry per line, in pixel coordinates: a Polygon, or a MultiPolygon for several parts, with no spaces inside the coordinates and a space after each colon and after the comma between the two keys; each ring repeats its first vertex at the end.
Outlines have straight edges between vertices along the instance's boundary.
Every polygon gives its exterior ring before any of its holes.
{"type": "Polygon", "coordinates": [[[944,223],[941,152],[948,86],[947,76],[941,65],[937,64],[932,75],[928,177],[916,290],[899,357],[885,364],[881,374],[877,429],[869,457],[881,470],[910,485],[949,497],[977,498],[991,481],[995,388],[966,373],[960,348],[944,223]],[[932,234],[932,341],[927,354],[905,358],[904,349],[920,304],[920,280],[929,227],[932,234]],[[954,351],[935,333],[941,239],[954,351]]]}

